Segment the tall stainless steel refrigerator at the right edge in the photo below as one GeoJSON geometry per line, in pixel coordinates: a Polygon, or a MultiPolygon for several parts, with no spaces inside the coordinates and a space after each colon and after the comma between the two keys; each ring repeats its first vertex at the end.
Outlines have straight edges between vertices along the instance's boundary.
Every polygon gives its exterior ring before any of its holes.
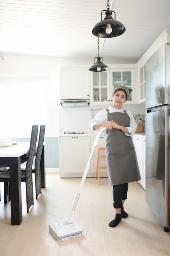
{"type": "Polygon", "coordinates": [[[147,61],[146,202],[170,231],[170,44],[147,61]]]}

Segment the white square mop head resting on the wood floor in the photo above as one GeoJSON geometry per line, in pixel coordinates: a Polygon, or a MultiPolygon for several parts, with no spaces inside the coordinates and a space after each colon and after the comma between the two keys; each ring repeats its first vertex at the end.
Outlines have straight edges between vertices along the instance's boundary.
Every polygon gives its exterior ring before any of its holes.
{"type": "Polygon", "coordinates": [[[83,229],[76,223],[68,223],[67,221],[52,223],[49,225],[49,229],[60,242],[67,241],[70,238],[77,238],[83,232],[83,229]]]}

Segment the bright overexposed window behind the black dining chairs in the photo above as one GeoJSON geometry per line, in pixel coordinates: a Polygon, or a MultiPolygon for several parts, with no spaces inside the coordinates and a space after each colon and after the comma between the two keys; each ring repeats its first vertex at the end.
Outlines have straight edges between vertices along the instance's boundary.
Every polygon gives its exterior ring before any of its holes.
{"type": "Polygon", "coordinates": [[[28,137],[32,125],[47,124],[47,77],[0,79],[0,138],[28,137]]]}

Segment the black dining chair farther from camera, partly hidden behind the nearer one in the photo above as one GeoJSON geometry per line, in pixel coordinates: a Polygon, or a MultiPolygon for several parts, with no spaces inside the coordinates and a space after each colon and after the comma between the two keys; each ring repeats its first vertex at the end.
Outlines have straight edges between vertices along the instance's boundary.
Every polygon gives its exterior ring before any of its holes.
{"type": "MultiPolygon", "coordinates": [[[[44,143],[44,134],[45,134],[45,125],[40,126],[39,140],[38,140],[38,148],[35,156],[35,165],[32,166],[32,171],[35,173],[35,191],[36,191],[36,199],[38,199],[38,195],[42,193],[41,191],[41,155],[42,148],[44,143]]],[[[21,164],[21,171],[25,171],[25,164],[21,164]]]]}

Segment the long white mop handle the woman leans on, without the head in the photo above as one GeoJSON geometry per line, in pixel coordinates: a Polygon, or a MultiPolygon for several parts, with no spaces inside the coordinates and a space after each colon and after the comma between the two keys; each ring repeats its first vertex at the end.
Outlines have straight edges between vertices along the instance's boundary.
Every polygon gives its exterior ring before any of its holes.
{"type": "Polygon", "coordinates": [[[93,154],[94,154],[94,152],[95,152],[95,148],[96,148],[96,146],[97,146],[97,142],[98,142],[98,140],[99,140],[100,134],[101,134],[101,132],[102,132],[103,130],[105,130],[105,129],[106,129],[106,127],[104,127],[104,128],[102,128],[101,130],[99,130],[99,131],[97,132],[96,137],[95,137],[95,141],[94,141],[94,143],[93,143],[93,148],[92,148],[91,154],[90,154],[90,156],[89,156],[89,158],[88,158],[88,162],[87,162],[87,164],[86,164],[86,168],[85,168],[84,173],[83,173],[83,177],[82,177],[82,180],[81,180],[81,183],[80,183],[80,186],[79,186],[79,190],[78,190],[78,192],[77,192],[77,196],[76,196],[76,198],[75,198],[75,202],[74,202],[73,209],[72,209],[70,218],[69,218],[69,220],[68,220],[68,223],[71,223],[71,222],[73,221],[73,215],[74,215],[74,212],[75,212],[75,208],[76,208],[76,206],[77,206],[77,202],[78,202],[78,200],[79,200],[79,195],[80,195],[80,193],[81,193],[81,191],[82,191],[82,187],[83,187],[84,181],[85,181],[85,179],[86,179],[89,166],[90,166],[90,164],[91,164],[91,159],[92,159],[93,154]]]}

